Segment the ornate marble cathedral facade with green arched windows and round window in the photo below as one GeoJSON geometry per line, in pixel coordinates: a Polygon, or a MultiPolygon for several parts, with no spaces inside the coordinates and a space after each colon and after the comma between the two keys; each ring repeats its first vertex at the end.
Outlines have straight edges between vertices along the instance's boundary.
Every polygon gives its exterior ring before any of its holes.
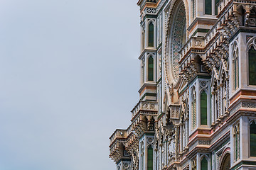
{"type": "Polygon", "coordinates": [[[138,5],[139,102],[110,137],[117,170],[256,169],[256,1],[138,5]]]}

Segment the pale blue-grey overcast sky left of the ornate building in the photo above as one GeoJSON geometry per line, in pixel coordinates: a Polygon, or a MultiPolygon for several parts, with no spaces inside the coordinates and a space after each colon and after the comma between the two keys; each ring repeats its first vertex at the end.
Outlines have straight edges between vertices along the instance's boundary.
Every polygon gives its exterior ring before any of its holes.
{"type": "Polygon", "coordinates": [[[0,169],[115,169],[139,100],[137,0],[0,1],[0,169]]]}

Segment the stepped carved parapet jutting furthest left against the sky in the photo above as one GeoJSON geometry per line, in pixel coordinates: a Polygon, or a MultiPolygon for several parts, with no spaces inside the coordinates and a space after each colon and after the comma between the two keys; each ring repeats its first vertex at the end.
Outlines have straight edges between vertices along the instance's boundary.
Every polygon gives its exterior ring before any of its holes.
{"type": "Polygon", "coordinates": [[[154,130],[154,121],[158,106],[155,101],[139,101],[132,109],[132,124],[127,130],[117,129],[110,137],[110,158],[114,162],[120,159],[131,159],[139,148],[139,135],[145,131],[154,130]]]}

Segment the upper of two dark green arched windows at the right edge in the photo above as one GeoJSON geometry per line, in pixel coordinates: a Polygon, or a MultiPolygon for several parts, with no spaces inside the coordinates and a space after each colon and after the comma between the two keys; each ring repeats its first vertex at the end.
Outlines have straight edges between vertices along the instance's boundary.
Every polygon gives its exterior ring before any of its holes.
{"type": "Polygon", "coordinates": [[[250,47],[249,50],[249,85],[256,85],[256,50],[250,47]]]}

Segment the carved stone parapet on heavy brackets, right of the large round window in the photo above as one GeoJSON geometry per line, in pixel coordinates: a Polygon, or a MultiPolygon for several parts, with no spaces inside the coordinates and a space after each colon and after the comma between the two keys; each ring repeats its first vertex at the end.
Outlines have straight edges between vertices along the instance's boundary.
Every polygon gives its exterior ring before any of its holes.
{"type": "MultiPolygon", "coordinates": [[[[204,37],[191,37],[180,50],[180,76],[186,81],[191,80],[198,72],[212,72],[218,77],[217,68],[220,64],[228,72],[229,41],[237,33],[242,24],[238,7],[243,1],[223,0],[218,4],[221,11],[218,20],[204,37]],[[198,57],[204,67],[198,67],[198,57]],[[201,69],[204,69],[203,71],[201,69]]],[[[255,4],[256,5],[256,4],[255,4]]],[[[247,8],[246,6],[244,8],[247,8]]],[[[219,9],[219,10],[220,10],[219,9]]],[[[249,11],[250,12],[250,11],[249,11]]],[[[249,17],[249,16],[248,16],[249,17]]]]}

